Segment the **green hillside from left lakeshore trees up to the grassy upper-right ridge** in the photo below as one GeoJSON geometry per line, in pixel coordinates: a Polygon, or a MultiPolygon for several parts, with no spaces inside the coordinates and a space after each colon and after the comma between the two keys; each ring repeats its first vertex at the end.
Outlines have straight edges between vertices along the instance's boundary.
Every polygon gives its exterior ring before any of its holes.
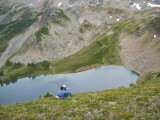
{"type": "Polygon", "coordinates": [[[122,65],[119,55],[119,36],[127,33],[136,33],[138,30],[148,29],[152,19],[123,20],[116,23],[105,23],[106,31],[100,34],[90,45],[83,47],[79,52],[56,61],[43,61],[22,65],[21,63],[11,63],[9,60],[0,68],[0,83],[9,83],[16,79],[35,76],[41,74],[58,74],[66,71],[75,72],[85,66],[99,65],[122,65]],[[108,35],[108,31],[113,34],[108,35]]]}

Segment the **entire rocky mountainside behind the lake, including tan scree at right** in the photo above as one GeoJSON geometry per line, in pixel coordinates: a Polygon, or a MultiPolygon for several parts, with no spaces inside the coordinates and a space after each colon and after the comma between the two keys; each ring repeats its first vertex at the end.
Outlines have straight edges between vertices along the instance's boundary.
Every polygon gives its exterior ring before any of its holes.
{"type": "Polygon", "coordinates": [[[124,66],[140,74],[160,71],[159,28],[153,25],[159,25],[159,1],[2,0],[0,5],[1,67],[7,60],[23,64],[63,60],[102,34],[116,34],[124,66]],[[124,29],[115,31],[116,24],[124,29]]]}

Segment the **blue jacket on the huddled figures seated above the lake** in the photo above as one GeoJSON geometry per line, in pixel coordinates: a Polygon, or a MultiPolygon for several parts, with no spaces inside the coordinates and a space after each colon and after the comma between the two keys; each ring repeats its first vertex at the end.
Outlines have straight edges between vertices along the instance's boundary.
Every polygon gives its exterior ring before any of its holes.
{"type": "Polygon", "coordinates": [[[63,99],[63,98],[70,97],[70,96],[71,96],[71,93],[70,93],[70,90],[69,90],[69,89],[60,90],[60,91],[58,92],[57,96],[58,96],[60,99],[63,99]]]}

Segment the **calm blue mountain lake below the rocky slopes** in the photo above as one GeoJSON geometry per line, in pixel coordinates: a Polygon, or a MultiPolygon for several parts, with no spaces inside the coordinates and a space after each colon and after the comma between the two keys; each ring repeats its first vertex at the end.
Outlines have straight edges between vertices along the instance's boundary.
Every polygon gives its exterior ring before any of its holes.
{"type": "Polygon", "coordinates": [[[0,104],[35,100],[46,92],[56,95],[63,84],[67,85],[73,94],[128,87],[129,84],[136,83],[138,77],[137,73],[122,66],[102,66],[78,73],[28,77],[1,86],[0,104]]]}

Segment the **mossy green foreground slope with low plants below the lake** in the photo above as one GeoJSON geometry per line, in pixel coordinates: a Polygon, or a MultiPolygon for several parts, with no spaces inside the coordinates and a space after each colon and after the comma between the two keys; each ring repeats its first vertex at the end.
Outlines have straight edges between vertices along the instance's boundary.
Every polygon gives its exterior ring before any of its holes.
{"type": "Polygon", "coordinates": [[[160,73],[149,73],[137,85],[0,106],[0,119],[16,120],[158,120],[160,73]]]}

